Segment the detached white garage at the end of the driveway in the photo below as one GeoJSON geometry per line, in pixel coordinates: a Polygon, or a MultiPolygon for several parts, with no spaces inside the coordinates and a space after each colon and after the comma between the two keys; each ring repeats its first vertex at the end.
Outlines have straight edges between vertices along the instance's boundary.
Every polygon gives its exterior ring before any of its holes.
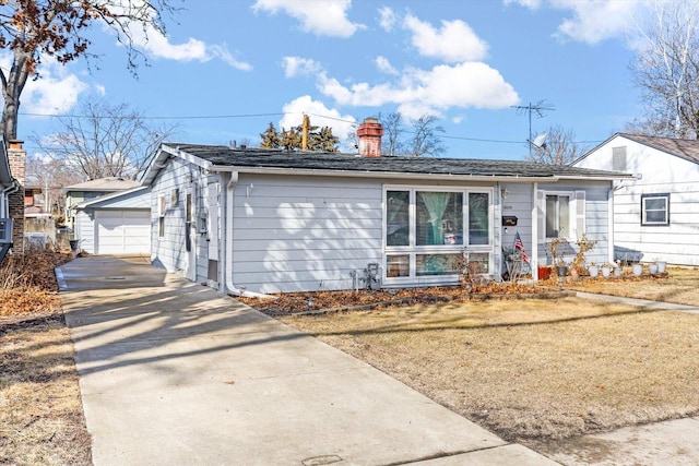
{"type": "Polygon", "coordinates": [[[145,187],[75,205],[75,239],[90,254],[151,253],[151,193],[145,187]]]}

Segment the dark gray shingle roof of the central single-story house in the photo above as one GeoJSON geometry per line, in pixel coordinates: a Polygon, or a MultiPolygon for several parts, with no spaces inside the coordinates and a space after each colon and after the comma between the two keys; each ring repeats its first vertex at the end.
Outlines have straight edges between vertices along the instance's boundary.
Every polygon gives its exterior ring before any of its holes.
{"type": "Polygon", "coordinates": [[[214,166],[288,168],[304,170],[359,171],[372,174],[458,175],[517,178],[619,178],[618,172],[535,164],[519,160],[488,160],[433,157],[357,157],[353,154],[285,152],[260,148],[230,148],[225,145],[174,144],[214,166]]]}

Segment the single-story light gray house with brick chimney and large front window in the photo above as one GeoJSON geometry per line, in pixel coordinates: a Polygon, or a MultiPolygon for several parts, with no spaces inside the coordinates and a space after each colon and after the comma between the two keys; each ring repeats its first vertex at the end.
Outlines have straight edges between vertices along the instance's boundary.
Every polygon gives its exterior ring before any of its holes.
{"type": "Polygon", "coordinates": [[[222,291],[268,294],[350,289],[370,263],[384,287],[455,284],[464,252],[499,279],[517,234],[534,275],[555,236],[594,236],[597,260],[611,260],[608,196],[624,177],[523,162],[164,144],[142,183],[154,264],[222,291]]]}

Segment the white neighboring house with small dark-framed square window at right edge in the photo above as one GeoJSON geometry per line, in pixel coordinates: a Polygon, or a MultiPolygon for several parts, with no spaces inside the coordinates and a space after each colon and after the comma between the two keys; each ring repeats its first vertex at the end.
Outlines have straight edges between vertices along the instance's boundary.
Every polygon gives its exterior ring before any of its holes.
{"type": "Polygon", "coordinates": [[[699,141],[618,133],[573,165],[635,175],[614,187],[617,259],[699,265],[699,141]]]}

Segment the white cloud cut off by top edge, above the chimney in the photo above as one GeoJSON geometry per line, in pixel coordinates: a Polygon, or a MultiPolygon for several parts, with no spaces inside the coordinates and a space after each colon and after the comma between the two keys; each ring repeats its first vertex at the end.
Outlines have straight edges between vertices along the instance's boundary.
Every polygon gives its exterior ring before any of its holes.
{"type": "Polygon", "coordinates": [[[298,20],[301,29],[318,36],[351,37],[357,29],[366,26],[353,23],[347,19],[347,10],[352,0],[324,0],[322,3],[309,4],[307,0],[257,0],[252,9],[276,14],[285,12],[298,20]]]}

